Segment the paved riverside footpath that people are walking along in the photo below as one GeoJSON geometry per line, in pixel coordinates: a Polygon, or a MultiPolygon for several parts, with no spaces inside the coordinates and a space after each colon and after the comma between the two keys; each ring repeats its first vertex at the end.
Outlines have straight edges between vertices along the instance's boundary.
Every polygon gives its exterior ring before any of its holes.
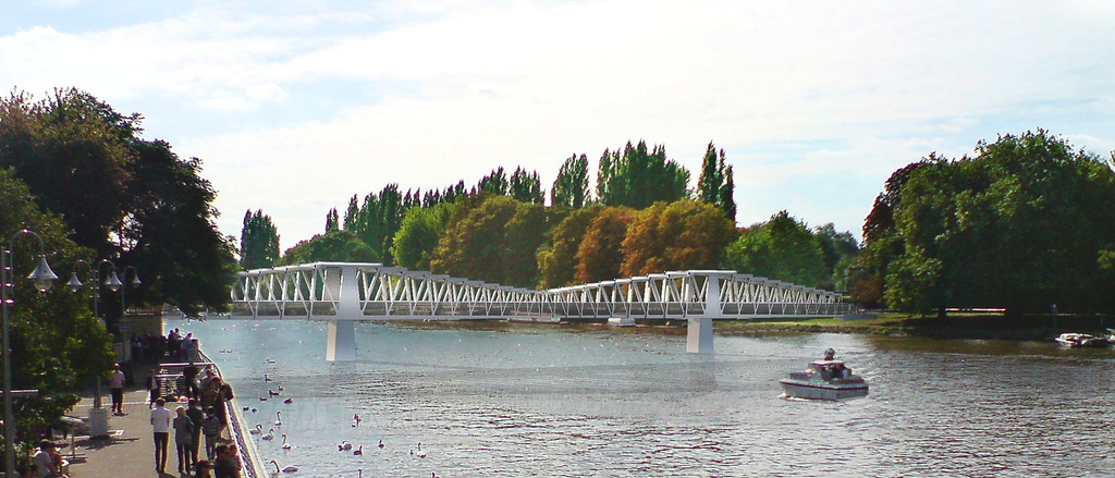
{"type": "MultiPolygon", "coordinates": [[[[59,452],[70,462],[69,476],[71,478],[175,478],[191,476],[177,474],[178,461],[177,453],[174,450],[173,435],[167,447],[167,471],[161,474],[155,469],[155,442],[152,435],[151,408],[147,404],[149,392],[142,386],[147,377],[149,367],[158,365],[142,365],[133,370],[133,373],[135,373],[134,381],[137,382],[137,386],[125,388],[125,414],[115,416],[109,413],[107,439],[93,439],[80,435],[77,437],[67,437],[65,440],[55,439],[59,445],[65,445],[65,448],[59,448],[59,452]]],[[[101,407],[107,410],[112,403],[112,398],[107,388],[103,387],[101,391],[104,393],[101,397],[101,407]]],[[[67,414],[87,419],[93,403],[93,393],[87,392],[81,396],[81,401],[67,414]]],[[[166,408],[173,412],[178,404],[185,406],[185,403],[167,402],[166,408]]],[[[229,431],[225,431],[224,438],[234,439],[239,443],[243,443],[243,433],[236,433],[240,437],[230,433],[230,431],[235,432],[233,428],[242,430],[242,428],[239,428],[242,421],[239,420],[239,413],[235,412],[235,402],[230,403],[230,427],[229,431]]],[[[241,448],[243,448],[243,445],[241,445],[241,448]]],[[[250,478],[258,475],[254,471],[258,467],[253,466],[252,460],[245,455],[246,451],[241,450],[241,461],[244,464],[244,469],[241,472],[243,477],[250,478]]],[[[198,455],[200,459],[204,459],[204,443],[200,448],[198,455]]]]}

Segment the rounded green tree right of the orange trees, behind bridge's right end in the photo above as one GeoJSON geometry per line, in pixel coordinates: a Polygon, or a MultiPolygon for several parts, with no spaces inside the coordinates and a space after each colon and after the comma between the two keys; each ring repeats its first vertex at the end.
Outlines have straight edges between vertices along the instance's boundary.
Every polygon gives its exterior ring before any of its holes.
{"type": "Polygon", "coordinates": [[[786,211],[741,231],[739,238],[728,245],[725,265],[740,273],[811,287],[825,279],[817,238],[786,211]]]}

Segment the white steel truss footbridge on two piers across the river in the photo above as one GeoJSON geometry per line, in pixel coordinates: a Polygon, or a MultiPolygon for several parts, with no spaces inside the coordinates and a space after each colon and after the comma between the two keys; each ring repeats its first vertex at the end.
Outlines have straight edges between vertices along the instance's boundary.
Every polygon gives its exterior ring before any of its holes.
{"type": "Polygon", "coordinates": [[[712,351],[712,319],[836,316],[835,292],[739,274],[677,271],[550,289],[514,287],[389,267],[317,262],[237,274],[237,315],[329,322],[327,360],[355,360],[353,321],[620,319],[688,320],[687,350],[712,351]]]}

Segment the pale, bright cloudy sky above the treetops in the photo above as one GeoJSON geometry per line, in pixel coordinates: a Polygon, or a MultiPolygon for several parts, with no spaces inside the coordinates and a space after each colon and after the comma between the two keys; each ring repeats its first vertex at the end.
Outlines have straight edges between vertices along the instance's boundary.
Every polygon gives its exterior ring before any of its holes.
{"type": "Polygon", "coordinates": [[[262,209],[283,250],[389,183],[502,166],[549,191],[629,140],[691,186],[724,149],[739,226],[785,209],[859,236],[930,153],[1043,128],[1111,157],[1112,31],[1105,0],[0,0],[0,87],[142,114],[202,159],[222,233],[262,209]]]}

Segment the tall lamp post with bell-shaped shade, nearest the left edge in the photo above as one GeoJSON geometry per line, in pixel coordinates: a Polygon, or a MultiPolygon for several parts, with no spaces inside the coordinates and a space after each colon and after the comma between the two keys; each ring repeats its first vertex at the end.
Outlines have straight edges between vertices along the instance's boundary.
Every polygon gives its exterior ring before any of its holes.
{"type": "Polygon", "coordinates": [[[42,244],[42,237],[31,230],[21,230],[11,236],[8,248],[4,248],[0,254],[0,275],[2,275],[0,276],[0,297],[3,302],[3,445],[4,476],[7,477],[16,476],[16,418],[11,409],[11,341],[9,340],[11,329],[8,324],[8,305],[13,303],[16,297],[12,250],[16,248],[16,237],[25,234],[33,235],[35,238],[39,240],[39,264],[27,279],[35,283],[35,289],[38,289],[39,292],[47,292],[54,280],[58,279],[50,270],[50,264],[47,264],[47,252],[42,244]],[[10,299],[9,289],[12,289],[10,299]]]}

